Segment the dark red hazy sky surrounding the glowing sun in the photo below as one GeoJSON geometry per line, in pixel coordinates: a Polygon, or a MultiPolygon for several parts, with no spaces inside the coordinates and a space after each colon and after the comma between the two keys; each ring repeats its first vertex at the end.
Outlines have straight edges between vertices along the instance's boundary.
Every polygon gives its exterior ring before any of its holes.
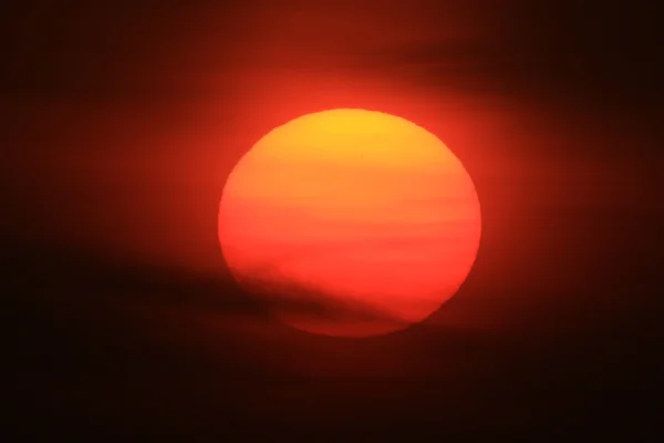
{"type": "Polygon", "coordinates": [[[138,3],[3,7],[3,429],[654,435],[650,6],[138,3]],[[330,107],[413,120],[477,186],[476,266],[400,334],[274,323],[219,251],[235,162],[330,107]]]}

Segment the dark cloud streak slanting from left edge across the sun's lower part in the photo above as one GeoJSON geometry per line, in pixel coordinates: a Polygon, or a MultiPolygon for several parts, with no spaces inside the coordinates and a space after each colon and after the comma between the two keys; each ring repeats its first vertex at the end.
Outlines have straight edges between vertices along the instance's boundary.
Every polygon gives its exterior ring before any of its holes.
{"type": "Polygon", "coordinates": [[[324,305],[328,297],[314,288],[279,288],[274,281],[266,284],[261,280],[260,270],[249,276],[248,280],[243,279],[243,288],[240,288],[230,277],[225,278],[218,274],[152,266],[133,262],[131,259],[111,259],[84,250],[46,247],[43,244],[30,247],[6,241],[1,258],[9,270],[10,278],[6,280],[10,288],[9,296],[25,297],[24,292],[30,290],[35,297],[32,301],[37,303],[43,296],[40,295],[41,291],[55,291],[56,297],[62,298],[61,302],[73,305],[106,300],[105,302],[111,303],[125,303],[131,309],[132,305],[148,303],[157,308],[165,306],[194,309],[221,318],[241,316],[249,321],[267,321],[266,309],[273,309],[311,317],[360,316],[367,321],[401,322],[401,319],[363,307],[360,302],[353,307],[324,305]],[[262,293],[260,300],[253,300],[250,293],[245,292],[246,288],[252,287],[257,288],[257,295],[262,293]],[[272,291],[276,291],[276,297],[266,297],[272,291]],[[294,292],[298,297],[277,297],[283,291],[294,292]],[[81,297],[91,297],[91,300],[81,297]]]}

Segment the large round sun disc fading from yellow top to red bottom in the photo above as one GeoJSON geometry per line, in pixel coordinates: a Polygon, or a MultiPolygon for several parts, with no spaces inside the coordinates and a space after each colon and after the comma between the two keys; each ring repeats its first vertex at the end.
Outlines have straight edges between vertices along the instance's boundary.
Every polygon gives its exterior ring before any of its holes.
{"type": "Polygon", "coordinates": [[[481,229],[470,176],[432,133],[364,110],[276,127],[231,172],[219,240],[280,321],[340,337],[419,322],[454,296],[481,229]]]}

